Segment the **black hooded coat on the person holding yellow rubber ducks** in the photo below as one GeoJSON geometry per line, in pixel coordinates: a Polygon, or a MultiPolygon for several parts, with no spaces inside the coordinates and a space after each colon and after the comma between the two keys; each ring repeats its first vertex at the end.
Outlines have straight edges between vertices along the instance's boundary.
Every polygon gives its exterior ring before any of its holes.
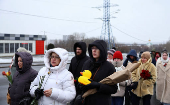
{"type": "Polygon", "coordinates": [[[107,61],[107,44],[103,40],[96,40],[89,44],[88,52],[90,59],[83,65],[83,70],[92,72],[92,82],[83,86],[83,92],[96,88],[97,93],[87,96],[84,100],[85,105],[111,105],[111,94],[117,92],[117,85],[99,83],[116,71],[113,64],[107,61]],[[94,50],[100,50],[98,60],[94,58],[92,53],[94,50]]]}

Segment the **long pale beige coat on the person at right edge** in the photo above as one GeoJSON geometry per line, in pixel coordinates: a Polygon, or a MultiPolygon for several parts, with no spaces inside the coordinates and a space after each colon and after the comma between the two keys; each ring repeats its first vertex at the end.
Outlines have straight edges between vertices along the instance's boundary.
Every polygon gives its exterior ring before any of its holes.
{"type": "Polygon", "coordinates": [[[166,68],[162,65],[160,60],[157,65],[157,81],[156,81],[156,97],[164,103],[170,103],[170,61],[168,61],[166,68]]]}

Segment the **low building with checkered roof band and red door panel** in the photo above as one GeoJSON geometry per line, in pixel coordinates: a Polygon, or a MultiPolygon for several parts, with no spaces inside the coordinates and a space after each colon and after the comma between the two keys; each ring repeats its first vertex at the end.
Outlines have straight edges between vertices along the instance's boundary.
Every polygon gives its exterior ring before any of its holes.
{"type": "Polygon", "coordinates": [[[0,56],[12,56],[19,47],[31,51],[32,55],[45,52],[46,35],[0,33],[0,56]]]}

